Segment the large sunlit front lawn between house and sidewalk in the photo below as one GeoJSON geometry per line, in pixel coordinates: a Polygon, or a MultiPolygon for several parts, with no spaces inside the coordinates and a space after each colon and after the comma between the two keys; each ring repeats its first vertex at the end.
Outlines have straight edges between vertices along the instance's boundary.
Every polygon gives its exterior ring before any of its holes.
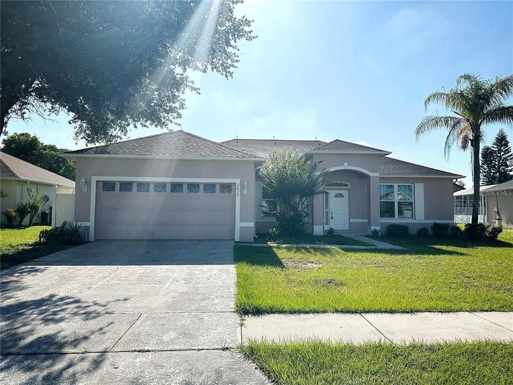
{"type": "Polygon", "coordinates": [[[513,310],[513,231],[483,245],[451,239],[409,248],[235,246],[242,314],[513,310]]]}

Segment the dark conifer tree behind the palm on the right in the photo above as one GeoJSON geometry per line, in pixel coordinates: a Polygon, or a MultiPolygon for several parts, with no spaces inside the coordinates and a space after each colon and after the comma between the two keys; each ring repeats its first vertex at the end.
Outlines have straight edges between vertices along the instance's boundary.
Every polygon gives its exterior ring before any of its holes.
{"type": "Polygon", "coordinates": [[[481,164],[481,183],[485,185],[504,183],[513,179],[513,154],[508,136],[502,128],[491,146],[484,146],[481,150],[481,164]]]}

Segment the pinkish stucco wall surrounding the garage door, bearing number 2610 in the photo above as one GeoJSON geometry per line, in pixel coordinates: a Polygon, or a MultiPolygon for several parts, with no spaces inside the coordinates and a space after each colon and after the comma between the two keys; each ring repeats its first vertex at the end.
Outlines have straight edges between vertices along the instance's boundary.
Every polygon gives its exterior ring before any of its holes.
{"type": "MultiPolygon", "coordinates": [[[[244,160],[164,160],[127,158],[77,158],[75,221],[88,222],[90,212],[91,177],[131,177],[147,178],[211,178],[240,179],[240,220],[254,221],[254,163],[244,160]],[[88,189],[82,191],[80,181],[85,179],[88,189]],[[244,181],[248,183],[247,194],[243,194],[244,181]]],[[[107,178],[108,179],[108,178],[107,178]]],[[[241,227],[242,228],[242,227],[241,227]]],[[[246,226],[241,231],[241,241],[253,240],[253,227],[246,226]],[[251,234],[249,239],[248,233],[251,234]],[[244,239],[242,238],[244,237],[244,239]]]]}

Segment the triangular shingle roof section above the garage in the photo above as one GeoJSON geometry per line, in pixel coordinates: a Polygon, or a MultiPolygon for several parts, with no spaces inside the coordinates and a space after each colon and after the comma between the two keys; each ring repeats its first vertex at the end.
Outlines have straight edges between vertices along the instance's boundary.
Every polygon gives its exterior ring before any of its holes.
{"type": "Polygon", "coordinates": [[[255,158],[253,153],[243,152],[225,144],[213,142],[182,130],[164,132],[102,146],[83,148],[67,153],[69,156],[78,154],[255,158]]]}

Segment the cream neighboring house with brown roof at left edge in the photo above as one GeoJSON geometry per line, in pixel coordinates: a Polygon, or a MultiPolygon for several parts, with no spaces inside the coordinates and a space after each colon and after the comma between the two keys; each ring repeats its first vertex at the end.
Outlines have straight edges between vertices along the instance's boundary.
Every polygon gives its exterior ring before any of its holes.
{"type": "MultiPolygon", "coordinates": [[[[70,194],[74,194],[75,182],[5,152],[0,152],[0,163],[0,188],[8,194],[7,198],[0,200],[2,223],[5,222],[3,213],[7,208],[16,208],[16,203],[27,200],[27,188],[48,198],[41,211],[52,211],[52,226],[55,226],[56,219],[73,219],[74,200],[70,194]]],[[[38,214],[36,222],[40,221],[41,215],[38,214]]],[[[27,222],[28,218],[24,223],[27,222]]]]}

